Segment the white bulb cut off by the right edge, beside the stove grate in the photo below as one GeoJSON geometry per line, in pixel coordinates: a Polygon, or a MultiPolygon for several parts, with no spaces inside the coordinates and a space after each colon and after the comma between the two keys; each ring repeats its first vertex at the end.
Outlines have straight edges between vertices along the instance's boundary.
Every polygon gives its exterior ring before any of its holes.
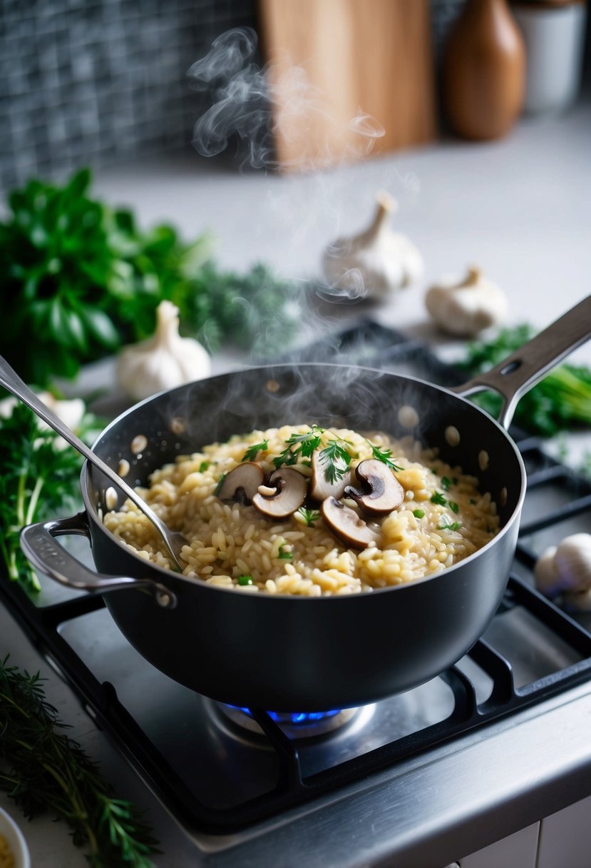
{"type": "Polygon", "coordinates": [[[568,605],[591,608],[591,534],[565,536],[559,545],[546,549],[534,576],[542,594],[563,594],[568,605]]]}

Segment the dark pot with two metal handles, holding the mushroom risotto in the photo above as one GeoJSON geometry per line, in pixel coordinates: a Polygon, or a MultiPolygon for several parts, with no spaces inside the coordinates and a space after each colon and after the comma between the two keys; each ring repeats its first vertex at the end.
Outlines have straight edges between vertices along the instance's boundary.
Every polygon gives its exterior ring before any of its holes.
{"type": "Polygon", "coordinates": [[[23,529],[33,565],[71,588],[105,595],[114,621],[153,666],[186,687],[241,707],[315,712],[406,691],[456,663],[497,610],[516,548],[525,495],[523,460],[506,429],[518,398],[591,334],[591,296],[522,350],[457,389],[353,365],[270,365],[200,380],[135,405],[93,450],[128,478],[148,475],[200,444],[289,422],[408,433],[479,479],[497,502],[500,530],[444,572],[371,593],[248,595],[147,563],[101,523],[110,483],[88,463],[84,511],[23,529]],[[503,395],[499,422],[466,395],[503,395]],[[411,407],[414,413],[406,409],[411,407]],[[412,424],[414,423],[414,424],[412,424]],[[409,427],[410,425],[410,427],[409,427]],[[133,439],[147,447],[136,455],[133,439]],[[55,542],[88,536],[94,573],[55,542]]]}

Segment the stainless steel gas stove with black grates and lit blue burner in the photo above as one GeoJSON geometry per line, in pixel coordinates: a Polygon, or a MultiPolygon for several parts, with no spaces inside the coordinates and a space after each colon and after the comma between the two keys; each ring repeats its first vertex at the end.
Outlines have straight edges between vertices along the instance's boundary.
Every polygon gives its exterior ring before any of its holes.
{"type": "MultiPolygon", "coordinates": [[[[461,381],[425,345],[370,322],[281,360],[343,361],[441,385],[461,381]]],[[[452,833],[453,852],[462,855],[591,794],[591,748],[581,733],[569,737],[560,763],[544,747],[547,727],[562,727],[563,740],[574,709],[591,720],[591,615],[575,619],[556,608],[536,592],[532,576],[547,545],[588,530],[591,485],[549,457],[537,438],[510,434],[529,485],[497,614],[455,666],[371,706],[290,715],[224,707],[154,669],[120,634],[100,596],[44,582],[31,602],[0,582],[0,597],[193,838],[204,864],[281,865],[269,861],[268,848],[297,846],[315,818],[330,825],[333,861],[307,858],[308,865],[445,865],[452,833]],[[531,767],[534,749],[546,765],[531,767]],[[506,763],[516,776],[514,792],[506,770],[496,771],[506,763]],[[481,774],[489,778],[478,787],[481,774]],[[468,821],[485,817],[487,832],[475,837],[468,821]],[[336,830],[361,822],[356,851],[337,856],[336,830]],[[389,849],[378,843],[386,840],[389,849]],[[383,861],[396,855],[401,862],[383,861]]],[[[88,560],[87,551],[77,554],[88,560]]]]}

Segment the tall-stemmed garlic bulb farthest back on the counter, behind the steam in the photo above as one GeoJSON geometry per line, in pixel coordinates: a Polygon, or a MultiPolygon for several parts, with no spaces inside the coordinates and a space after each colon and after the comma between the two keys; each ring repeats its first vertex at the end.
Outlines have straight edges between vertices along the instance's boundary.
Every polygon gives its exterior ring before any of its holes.
{"type": "Polygon", "coordinates": [[[419,251],[406,235],[389,226],[395,209],[392,197],[380,194],[373,223],[365,232],[328,245],[322,266],[331,293],[348,299],[385,299],[419,279],[423,272],[419,251]]]}

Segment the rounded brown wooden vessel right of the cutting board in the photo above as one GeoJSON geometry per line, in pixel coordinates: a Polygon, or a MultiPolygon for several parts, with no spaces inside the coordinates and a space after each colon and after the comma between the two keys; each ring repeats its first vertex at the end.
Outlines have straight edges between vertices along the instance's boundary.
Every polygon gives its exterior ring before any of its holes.
{"type": "Polygon", "coordinates": [[[525,94],[525,45],[506,0],[467,0],[443,58],[445,112],[466,139],[497,139],[525,94]]]}

